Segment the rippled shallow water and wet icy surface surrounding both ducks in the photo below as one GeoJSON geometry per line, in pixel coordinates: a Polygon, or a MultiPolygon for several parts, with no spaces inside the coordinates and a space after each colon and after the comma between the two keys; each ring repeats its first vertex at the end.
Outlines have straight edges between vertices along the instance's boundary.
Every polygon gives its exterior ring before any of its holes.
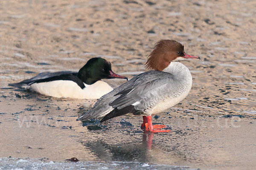
{"type": "Polygon", "coordinates": [[[0,169],[18,168],[20,160],[29,169],[41,158],[51,169],[254,169],[255,8],[254,0],[2,0],[0,169]],[[106,58],[130,79],[145,71],[154,42],[167,38],[201,57],[182,61],[193,77],[186,99],[153,118],[171,133],[143,133],[141,117],[82,123],[76,118],[95,100],[8,86],[40,72],[78,71],[91,57],[106,58]],[[79,164],[65,161],[72,157],[79,164]]]}

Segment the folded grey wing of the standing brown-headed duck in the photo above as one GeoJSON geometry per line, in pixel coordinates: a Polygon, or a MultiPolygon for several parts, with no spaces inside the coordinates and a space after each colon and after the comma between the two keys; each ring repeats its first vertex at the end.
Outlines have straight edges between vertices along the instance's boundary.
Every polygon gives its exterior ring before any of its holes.
{"type": "Polygon", "coordinates": [[[174,77],[167,72],[154,72],[150,77],[138,79],[133,86],[118,93],[120,95],[109,105],[116,109],[134,105],[134,109],[147,112],[159,101],[169,98],[170,86],[174,83],[174,77]]]}

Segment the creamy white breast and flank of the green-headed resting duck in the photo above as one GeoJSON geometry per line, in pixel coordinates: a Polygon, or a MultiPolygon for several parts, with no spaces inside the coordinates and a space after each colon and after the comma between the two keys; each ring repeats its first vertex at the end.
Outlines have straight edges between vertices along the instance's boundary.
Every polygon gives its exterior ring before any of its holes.
{"type": "Polygon", "coordinates": [[[84,84],[85,88],[81,89],[73,81],[50,81],[44,83],[35,83],[31,88],[43,95],[49,95],[56,98],[79,98],[79,99],[98,99],[102,95],[111,92],[113,88],[104,81],[97,81],[94,84],[84,84]]]}

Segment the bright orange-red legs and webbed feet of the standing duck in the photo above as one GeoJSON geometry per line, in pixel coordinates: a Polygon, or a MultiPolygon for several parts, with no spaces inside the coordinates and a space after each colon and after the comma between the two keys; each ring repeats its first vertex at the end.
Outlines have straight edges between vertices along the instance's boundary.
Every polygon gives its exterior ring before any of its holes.
{"type": "Polygon", "coordinates": [[[151,132],[151,133],[157,133],[157,132],[170,132],[170,130],[160,130],[161,128],[166,127],[165,125],[162,124],[152,124],[151,116],[143,116],[143,124],[141,125],[141,129],[144,129],[146,132],[151,132]],[[154,130],[156,129],[156,130],[154,130]]]}

